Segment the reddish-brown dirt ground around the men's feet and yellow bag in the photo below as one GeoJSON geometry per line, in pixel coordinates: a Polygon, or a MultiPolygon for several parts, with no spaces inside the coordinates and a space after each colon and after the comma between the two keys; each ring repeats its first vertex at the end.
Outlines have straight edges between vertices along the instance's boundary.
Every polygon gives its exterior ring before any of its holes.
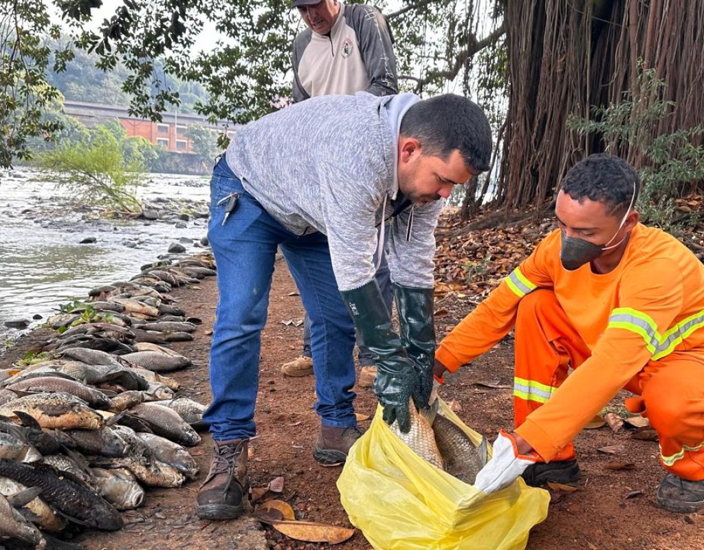
{"type": "MultiPolygon", "coordinates": [[[[286,378],[279,372],[283,361],[299,351],[302,326],[282,321],[301,320],[303,308],[286,265],[279,261],[271,292],[269,320],[263,333],[260,392],[256,409],[258,437],[251,442],[250,477],[253,487],[265,487],[284,477],[279,498],[294,507],[298,519],[351,527],[339,502],[335,480],[340,467],[324,468],[313,460],[312,451],[318,418],[311,408],[313,378],[286,378]]],[[[203,319],[194,342],[172,347],[197,365],[173,373],[182,384],[181,394],[207,403],[208,348],[215,315],[217,287],[210,277],[199,287],[176,289],[173,293],[189,315],[203,319]]],[[[436,299],[437,330],[441,337],[470,311],[470,300],[456,293],[436,299]]],[[[37,335],[18,342],[2,363],[20,356],[37,335]]],[[[513,340],[504,342],[479,358],[472,368],[460,369],[441,389],[446,401],[459,405],[458,415],[467,425],[494,437],[500,428],[512,426],[513,340]],[[478,384],[488,383],[489,386],[478,384]],[[491,387],[499,386],[499,387],[491,387]]],[[[357,411],[372,415],[376,399],[370,389],[358,390],[357,411]]],[[[613,408],[620,407],[620,399],[613,408]]],[[[369,420],[361,423],[366,427],[369,420]]],[[[704,515],[676,515],[655,507],[655,488],[664,475],[658,465],[658,443],[632,437],[634,430],[615,434],[608,426],[584,430],[577,438],[577,452],[583,478],[578,490],[553,495],[548,518],[534,527],[530,550],[698,550],[704,549],[704,515]],[[607,454],[605,446],[621,445],[622,451],[607,454]],[[629,464],[612,470],[610,463],[629,464]]],[[[327,544],[294,542],[270,527],[246,516],[234,522],[201,521],[194,515],[194,499],[207,472],[210,438],[191,449],[201,465],[199,480],[181,489],[150,490],[146,505],[125,513],[128,525],[119,532],[82,532],[77,537],[87,550],[101,549],[327,549],[327,544]],[[264,538],[265,537],[265,538],[264,538]]],[[[379,496],[370,495],[370,498],[379,496]]],[[[339,550],[367,550],[370,544],[361,532],[335,546],[339,550]]]]}

